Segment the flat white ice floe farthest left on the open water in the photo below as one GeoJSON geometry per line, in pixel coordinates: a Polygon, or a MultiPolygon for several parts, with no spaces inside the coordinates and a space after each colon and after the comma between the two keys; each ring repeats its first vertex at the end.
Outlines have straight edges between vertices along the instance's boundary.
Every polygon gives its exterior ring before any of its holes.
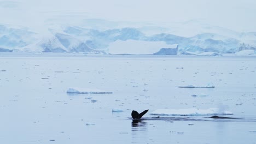
{"type": "Polygon", "coordinates": [[[104,94],[104,93],[112,93],[112,92],[101,91],[100,89],[96,89],[96,88],[68,88],[67,93],[104,94]]]}

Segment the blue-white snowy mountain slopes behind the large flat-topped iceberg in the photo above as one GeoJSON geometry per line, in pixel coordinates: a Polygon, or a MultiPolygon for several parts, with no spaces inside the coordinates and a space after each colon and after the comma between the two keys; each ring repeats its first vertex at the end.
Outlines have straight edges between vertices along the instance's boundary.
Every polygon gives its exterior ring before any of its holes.
{"type": "Polygon", "coordinates": [[[239,33],[224,28],[215,28],[217,30],[213,31],[214,28],[208,28],[210,32],[182,37],[167,31],[166,27],[162,31],[159,31],[160,27],[155,27],[153,30],[157,29],[156,33],[145,34],[148,28],[150,27],[102,30],[60,26],[56,31],[49,28],[49,34],[42,35],[27,28],[0,25],[0,51],[108,53],[109,46],[117,40],[164,41],[167,45],[178,44],[179,53],[236,53],[256,50],[256,32],[239,33]]]}

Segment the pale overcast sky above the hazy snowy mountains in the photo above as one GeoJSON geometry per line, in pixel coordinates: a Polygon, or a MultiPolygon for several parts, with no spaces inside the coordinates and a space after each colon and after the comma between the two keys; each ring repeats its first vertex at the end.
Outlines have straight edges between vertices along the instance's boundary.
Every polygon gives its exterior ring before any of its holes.
{"type": "Polygon", "coordinates": [[[47,19],[183,22],[256,32],[254,0],[0,0],[0,23],[40,27],[47,19]]]}

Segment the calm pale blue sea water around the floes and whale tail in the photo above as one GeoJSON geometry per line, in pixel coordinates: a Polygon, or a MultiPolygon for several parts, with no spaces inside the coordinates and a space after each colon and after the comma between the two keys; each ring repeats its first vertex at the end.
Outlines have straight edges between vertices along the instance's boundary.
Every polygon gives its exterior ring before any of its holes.
{"type": "Polygon", "coordinates": [[[0,143],[256,143],[256,57],[3,53],[0,90],[0,143]],[[187,85],[215,88],[178,88],[187,85]],[[193,107],[242,119],[131,119],[132,110],[149,109],[147,118],[193,107]]]}

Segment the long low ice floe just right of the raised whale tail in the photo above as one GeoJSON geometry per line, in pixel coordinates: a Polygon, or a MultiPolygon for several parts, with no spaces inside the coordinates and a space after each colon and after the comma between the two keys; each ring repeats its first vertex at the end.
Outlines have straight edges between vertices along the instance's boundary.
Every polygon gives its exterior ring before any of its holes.
{"type": "Polygon", "coordinates": [[[210,109],[158,109],[150,115],[162,116],[207,116],[207,115],[233,115],[230,111],[221,110],[217,107],[210,109]]]}

